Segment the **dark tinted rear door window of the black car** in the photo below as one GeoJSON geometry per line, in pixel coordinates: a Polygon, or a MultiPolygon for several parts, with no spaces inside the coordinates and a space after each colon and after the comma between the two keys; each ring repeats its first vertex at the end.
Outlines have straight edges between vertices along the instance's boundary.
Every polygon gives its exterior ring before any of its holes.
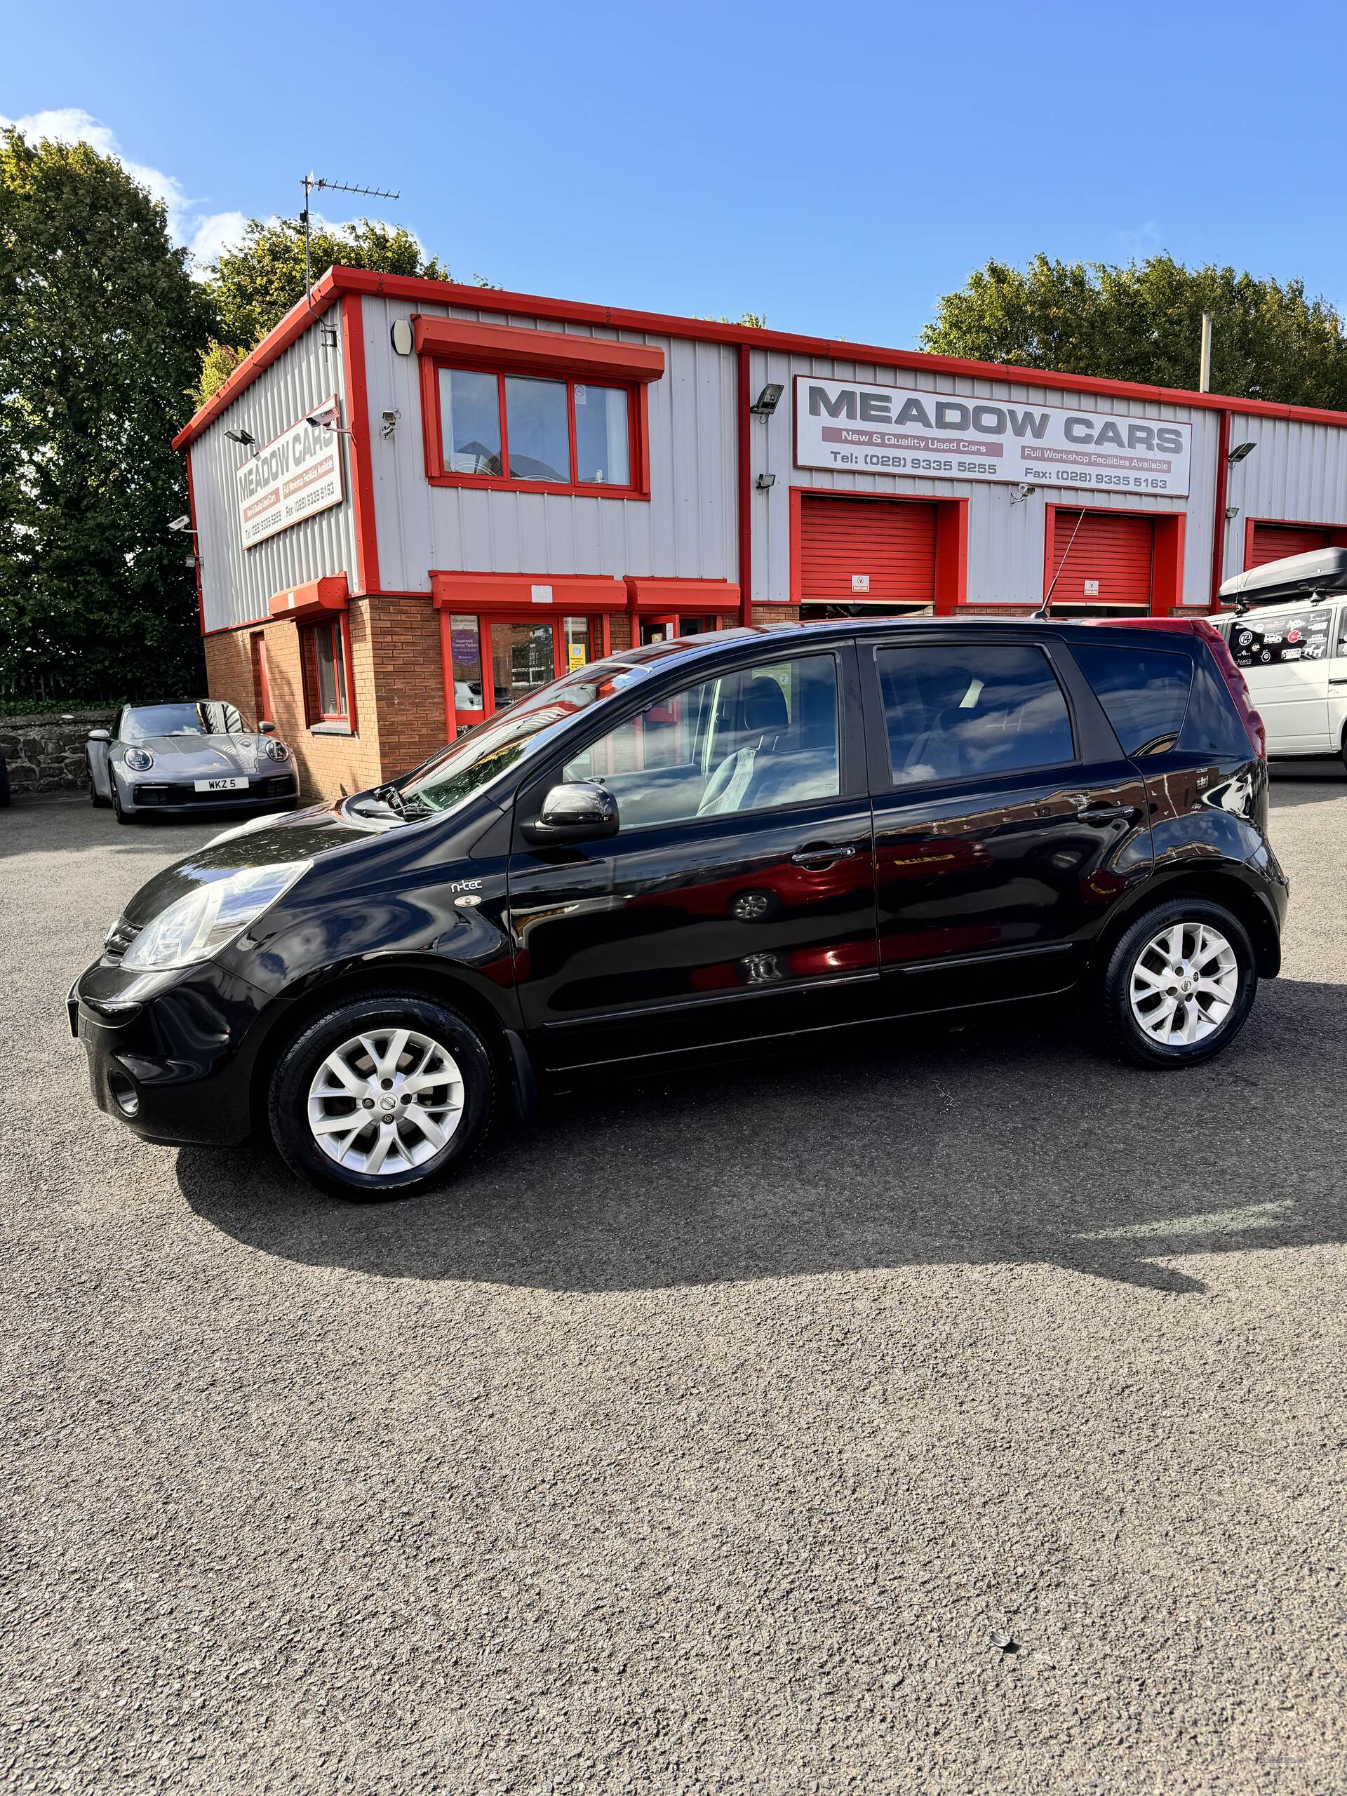
{"type": "Polygon", "coordinates": [[[1060,767],[1070,713],[1038,647],[968,643],[876,654],[894,785],[1060,767]]]}

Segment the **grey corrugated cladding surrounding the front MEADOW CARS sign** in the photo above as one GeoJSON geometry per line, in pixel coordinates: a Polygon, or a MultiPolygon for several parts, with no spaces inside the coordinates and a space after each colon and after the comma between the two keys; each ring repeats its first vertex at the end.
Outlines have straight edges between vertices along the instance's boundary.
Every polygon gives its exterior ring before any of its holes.
{"type": "MultiPolygon", "coordinates": [[[[833,381],[867,381],[875,386],[914,386],[923,392],[968,399],[1026,401],[1042,406],[1081,406],[1128,418],[1175,418],[1193,426],[1193,490],[1187,497],[1139,497],[1137,494],[1090,494],[1090,506],[1106,510],[1187,512],[1184,542],[1184,594],[1207,600],[1211,591],[1211,517],[1216,503],[1218,413],[1167,406],[1160,401],[1115,395],[1065,393],[1052,386],[1008,384],[934,374],[925,368],[876,368],[873,363],[835,361],[823,356],[788,356],[754,350],[749,386],[758,393],[767,381],[781,381],[781,404],[770,418],[753,422],[753,478],[774,474],[776,483],[753,490],[753,596],[758,602],[788,600],[790,593],[790,487],[828,487],[851,492],[909,492],[932,499],[972,496],[968,506],[968,598],[1042,598],[1047,505],[1070,503],[1070,487],[1038,487],[1027,499],[1015,499],[1011,485],[970,485],[957,480],[921,480],[909,474],[864,474],[794,465],[794,377],[814,374],[833,381]]],[[[1051,379],[1051,377],[1049,377],[1051,379]]],[[[1304,426],[1299,426],[1304,429],[1304,426]]],[[[1329,435],[1347,438],[1343,431],[1329,435]]],[[[1237,564],[1236,564],[1237,566],[1237,564]]],[[[797,594],[794,594],[797,596],[797,594]]]]}

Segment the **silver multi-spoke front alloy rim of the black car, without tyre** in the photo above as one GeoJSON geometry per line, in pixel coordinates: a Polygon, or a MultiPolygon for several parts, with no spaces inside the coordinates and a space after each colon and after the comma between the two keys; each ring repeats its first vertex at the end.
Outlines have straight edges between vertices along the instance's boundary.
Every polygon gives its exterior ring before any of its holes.
{"type": "Polygon", "coordinates": [[[368,1029],[334,1047],[309,1085],[309,1131],[348,1173],[424,1166],[463,1117],[454,1056],[417,1029],[368,1029]]]}

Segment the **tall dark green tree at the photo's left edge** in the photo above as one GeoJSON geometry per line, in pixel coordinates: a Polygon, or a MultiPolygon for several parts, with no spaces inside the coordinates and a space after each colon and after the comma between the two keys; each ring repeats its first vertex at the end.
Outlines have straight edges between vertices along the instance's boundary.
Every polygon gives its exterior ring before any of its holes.
{"type": "Polygon", "coordinates": [[[160,203],[86,144],[0,133],[0,691],[203,681],[174,431],[210,323],[160,203]]]}

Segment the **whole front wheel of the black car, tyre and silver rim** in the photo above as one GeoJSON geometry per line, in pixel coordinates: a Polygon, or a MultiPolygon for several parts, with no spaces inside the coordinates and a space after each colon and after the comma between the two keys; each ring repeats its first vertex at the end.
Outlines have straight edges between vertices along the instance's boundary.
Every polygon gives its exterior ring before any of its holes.
{"type": "Polygon", "coordinates": [[[406,991],[334,1006],[271,1076],[269,1122],[300,1178],[345,1198],[406,1198],[444,1178],[490,1119],[494,1074],[456,1011],[406,991]]]}

